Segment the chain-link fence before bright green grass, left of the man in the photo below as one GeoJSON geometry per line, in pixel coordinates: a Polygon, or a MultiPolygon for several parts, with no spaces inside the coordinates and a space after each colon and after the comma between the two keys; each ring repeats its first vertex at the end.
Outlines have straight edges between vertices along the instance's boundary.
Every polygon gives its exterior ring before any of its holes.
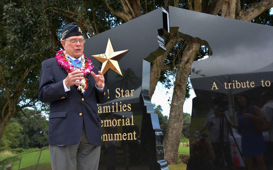
{"type": "Polygon", "coordinates": [[[0,162],[0,170],[43,170],[50,169],[49,148],[32,151],[5,159],[0,162]]]}

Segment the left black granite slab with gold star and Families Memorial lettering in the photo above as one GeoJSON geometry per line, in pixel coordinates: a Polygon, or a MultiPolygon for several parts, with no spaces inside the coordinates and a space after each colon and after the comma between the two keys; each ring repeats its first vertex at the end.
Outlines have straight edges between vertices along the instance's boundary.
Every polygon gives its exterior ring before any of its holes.
{"type": "Polygon", "coordinates": [[[165,51],[169,16],[157,9],[86,41],[109,89],[98,105],[102,126],[99,170],[168,169],[158,115],[149,97],[150,62],[165,51]]]}

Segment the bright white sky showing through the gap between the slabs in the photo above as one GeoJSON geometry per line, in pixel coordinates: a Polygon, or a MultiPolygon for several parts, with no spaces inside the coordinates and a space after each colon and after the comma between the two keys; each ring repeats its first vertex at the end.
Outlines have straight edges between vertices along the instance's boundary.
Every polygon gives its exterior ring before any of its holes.
{"type": "MultiPolygon", "coordinates": [[[[270,14],[273,14],[273,8],[271,8],[270,14]]],[[[172,99],[173,95],[173,88],[171,89],[166,89],[164,86],[158,82],[154,95],[152,96],[151,102],[155,103],[156,105],[161,105],[163,112],[162,114],[164,116],[169,116],[170,114],[170,104],[171,101],[168,101],[168,99],[172,99]],[[166,92],[168,92],[166,94],[166,92]]],[[[194,90],[190,90],[190,98],[188,98],[183,105],[183,112],[184,113],[190,113],[191,114],[191,109],[192,109],[192,99],[195,97],[194,90]]]]}

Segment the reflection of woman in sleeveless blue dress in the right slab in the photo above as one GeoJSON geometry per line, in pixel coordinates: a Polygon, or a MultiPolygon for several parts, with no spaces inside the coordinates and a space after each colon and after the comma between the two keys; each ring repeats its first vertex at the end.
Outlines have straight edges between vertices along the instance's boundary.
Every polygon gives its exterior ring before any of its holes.
{"type": "Polygon", "coordinates": [[[234,128],[241,130],[242,154],[248,170],[253,169],[253,157],[259,166],[259,170],[266,170],[263,153],[265,144],[261,132],[255,131],[253,121],[262,120],[262,113],[257,106],[249,105],[247,96],[238,95],[237,102],[240,110],[237,112],[238,126],[234,128]]]}

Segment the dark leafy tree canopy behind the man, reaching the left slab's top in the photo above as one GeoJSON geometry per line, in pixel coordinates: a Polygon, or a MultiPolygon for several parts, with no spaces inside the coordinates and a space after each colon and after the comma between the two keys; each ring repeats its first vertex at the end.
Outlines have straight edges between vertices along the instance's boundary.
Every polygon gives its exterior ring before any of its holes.
{"type": "MultiPolygon", "coordinates": [[[[59,40],[65,24],[79,21],[87,39],[121,23],[104,1],[4,0],[0,9],[1,125],[4,119],[8,122],[12,116],[21,117],[20,111],[27,107],[40,113],[49,111],[49,104],[38,100],[41,63],[61,48],[59,40]],[[14,102],[17,115],[9,112],[14,105],[7,105],[8,99],[14,102]]],[[[31,139],[23,136],[24,144],[20,145],[42,147],[46,139],[40,139],[40,135],[33,134],[31,139]]]]}

